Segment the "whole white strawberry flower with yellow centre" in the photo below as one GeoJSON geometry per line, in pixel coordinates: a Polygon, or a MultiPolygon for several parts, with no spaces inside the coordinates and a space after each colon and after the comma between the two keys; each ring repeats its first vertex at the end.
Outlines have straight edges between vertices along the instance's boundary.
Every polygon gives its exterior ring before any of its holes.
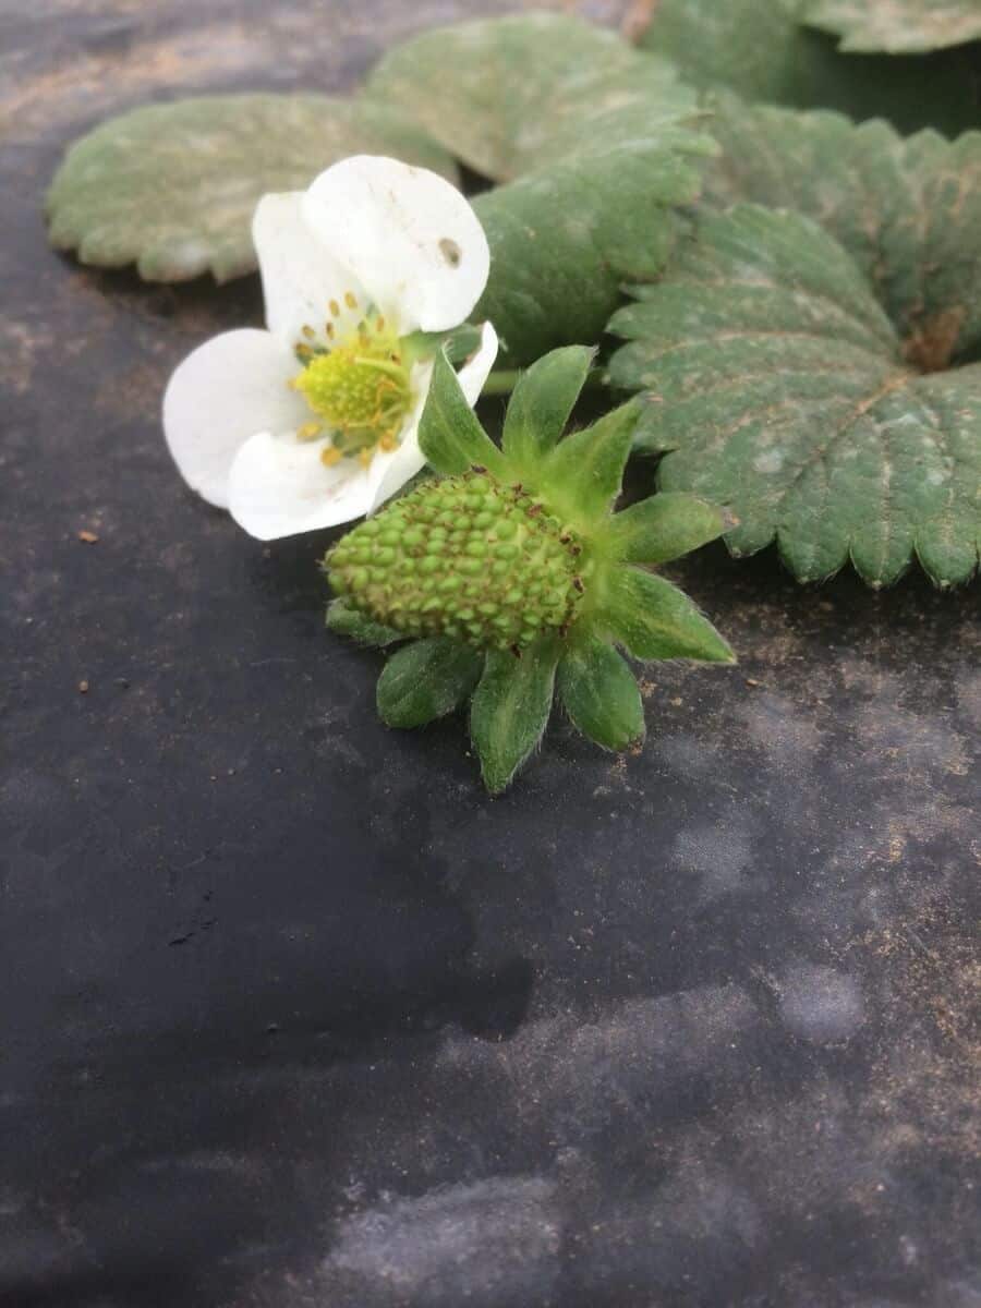
{"type": "MultiPolygon", "coordinates": [[[[164,396],[184,480],[259,540],[371,513],[425,463],[432,344],[467,320],[490,255],[467,200],[396,160],[353,156],[252,222],[267,330],[195,349],[164,396]]],[[[471,404],[497,356],[484,323],[459,370],[471,404]]]]}

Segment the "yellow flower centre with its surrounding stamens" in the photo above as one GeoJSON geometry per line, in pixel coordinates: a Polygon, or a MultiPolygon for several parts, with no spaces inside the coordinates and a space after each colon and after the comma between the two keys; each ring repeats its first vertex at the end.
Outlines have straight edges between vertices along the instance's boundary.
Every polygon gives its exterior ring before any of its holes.
{"type": "MultiPolygon", "coordinates": [[[[305,330],[305,335],[313,332],[305,330]]],[[[332,323],[327,337],[334,339],[332,323]]],[[[324,463],[353,455],[366,467],[375,450],[398,446],[412,388],[399,337],[385,319],[365,318],[357,331],[326,351],[301,344],[297,354],[306,366],[290,385],[318,419],[300,429],[300,438],[315,439],[327,429],[330,443],[320,455],[324,463]]]]}

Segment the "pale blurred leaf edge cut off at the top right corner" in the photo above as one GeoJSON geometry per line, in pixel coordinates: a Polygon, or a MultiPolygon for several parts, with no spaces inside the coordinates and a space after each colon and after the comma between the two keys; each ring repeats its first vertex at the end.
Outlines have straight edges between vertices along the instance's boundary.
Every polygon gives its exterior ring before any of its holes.
{"type": "Polygon", "coordinates": [[[848,51],[913,55],[981,38],[977,0],[810,0],[803,13],[848,51]]]}

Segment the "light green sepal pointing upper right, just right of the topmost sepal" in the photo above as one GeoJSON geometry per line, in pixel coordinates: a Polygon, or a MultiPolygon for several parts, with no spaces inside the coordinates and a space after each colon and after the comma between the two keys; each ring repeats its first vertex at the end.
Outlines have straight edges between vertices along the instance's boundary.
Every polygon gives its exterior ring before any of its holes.
{"type": "Polygon", "coordinates": [[[637,398],[573,432],[552,450],[542,481],[570,518],[606,517],[620,493],[641,405],[637,398]]]}

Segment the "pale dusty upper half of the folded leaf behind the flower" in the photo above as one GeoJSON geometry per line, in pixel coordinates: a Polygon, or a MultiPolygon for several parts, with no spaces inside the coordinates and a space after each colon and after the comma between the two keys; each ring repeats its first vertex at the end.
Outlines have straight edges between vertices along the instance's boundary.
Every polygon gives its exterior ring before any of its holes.
{"type": "Polygon", "coordinates": [[[385,55],[365,94],[496,182],[602,154],[697,111],[667,60],[555,13],[424,31],[385,55]]]}

